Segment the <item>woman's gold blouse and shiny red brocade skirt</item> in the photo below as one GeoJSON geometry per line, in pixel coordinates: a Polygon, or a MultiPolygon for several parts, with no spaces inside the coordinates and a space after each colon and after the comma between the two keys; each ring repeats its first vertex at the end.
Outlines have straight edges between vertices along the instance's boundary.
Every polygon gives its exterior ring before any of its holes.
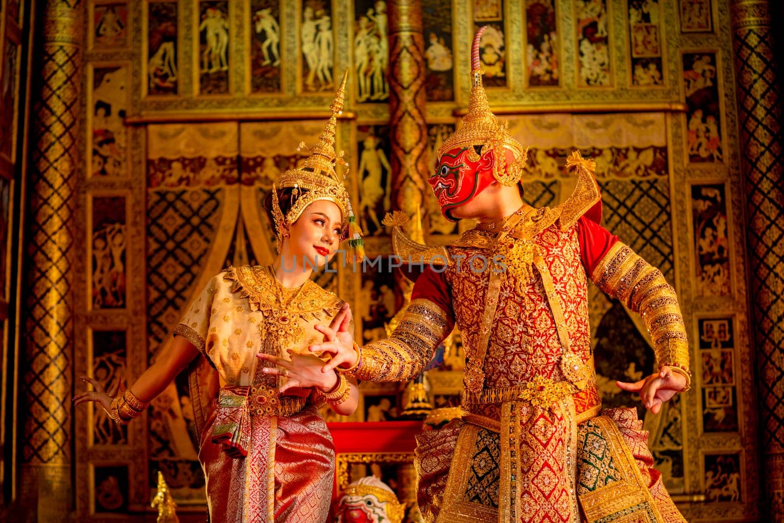
{"type": "Polygon", "coordinates": [[[259,372],[258,363],[269,364],[256,354],[305,353],[323,340],[314,326],[328,325],[342,305],[313,281],[282,289],[268,267],[230,267],[175,329],[214,369],[194,366],[190,383],[210,521],[327,518],[334,448],[324,419],[307,397],[281,397],[285,378],[259,372]]]}

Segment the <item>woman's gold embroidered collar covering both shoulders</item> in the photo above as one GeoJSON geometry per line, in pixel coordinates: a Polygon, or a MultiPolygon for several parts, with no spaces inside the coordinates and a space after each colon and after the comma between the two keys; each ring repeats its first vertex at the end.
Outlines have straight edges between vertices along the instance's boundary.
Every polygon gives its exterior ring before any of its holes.
{"type": "MultiPolygon", "coordinates": [[[[274,276],[267,268],[260,265],[228,267],[223,274],[224,280],[233,283],[231,292],[239,292],[240,297],[248,298],[251,311],[268,311],[280,307],[275,292],[277,282],[272,281],[272,278],[274,276]]],[[[318,314],[321,311],[334,314],[342,306],[343,300],[334,292],[322,289],[314,281],[307,280],[302,291],[294,296],[286,308],[290,312],[302,314],[303,317],[313,315],[321,318],[318,314]]]]}

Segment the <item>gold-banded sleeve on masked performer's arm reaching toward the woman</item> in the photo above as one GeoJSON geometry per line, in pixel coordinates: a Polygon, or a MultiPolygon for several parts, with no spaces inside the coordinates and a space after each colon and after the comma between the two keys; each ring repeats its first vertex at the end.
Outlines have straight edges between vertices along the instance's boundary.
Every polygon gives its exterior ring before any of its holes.
{"type": "Polygon", "coordinates": [[[451,330],[441,307],[430,300],[413,300],[390,338],[362,347],[362,363],[354,376],[363,381],[411,380],[451,330]]]}

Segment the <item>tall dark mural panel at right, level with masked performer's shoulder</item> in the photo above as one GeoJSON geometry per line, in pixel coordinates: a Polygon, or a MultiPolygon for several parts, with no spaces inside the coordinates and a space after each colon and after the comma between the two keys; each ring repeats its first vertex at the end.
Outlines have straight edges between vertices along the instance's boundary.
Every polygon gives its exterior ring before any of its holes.
{"type": "Polygon", "coordinates": [[[724,183],[691,186],[698,296],[731,296],[727,197],[724,183]]]}

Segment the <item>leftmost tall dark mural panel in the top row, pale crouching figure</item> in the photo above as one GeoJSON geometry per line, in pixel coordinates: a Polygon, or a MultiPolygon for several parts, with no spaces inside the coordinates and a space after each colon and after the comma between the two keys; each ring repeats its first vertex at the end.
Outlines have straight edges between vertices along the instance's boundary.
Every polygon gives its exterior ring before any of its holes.
{"type": "Polygon", "coordinates": [[[147,15],[147,93],[176,95],[177,3],[151,2],[147,15]]]}

